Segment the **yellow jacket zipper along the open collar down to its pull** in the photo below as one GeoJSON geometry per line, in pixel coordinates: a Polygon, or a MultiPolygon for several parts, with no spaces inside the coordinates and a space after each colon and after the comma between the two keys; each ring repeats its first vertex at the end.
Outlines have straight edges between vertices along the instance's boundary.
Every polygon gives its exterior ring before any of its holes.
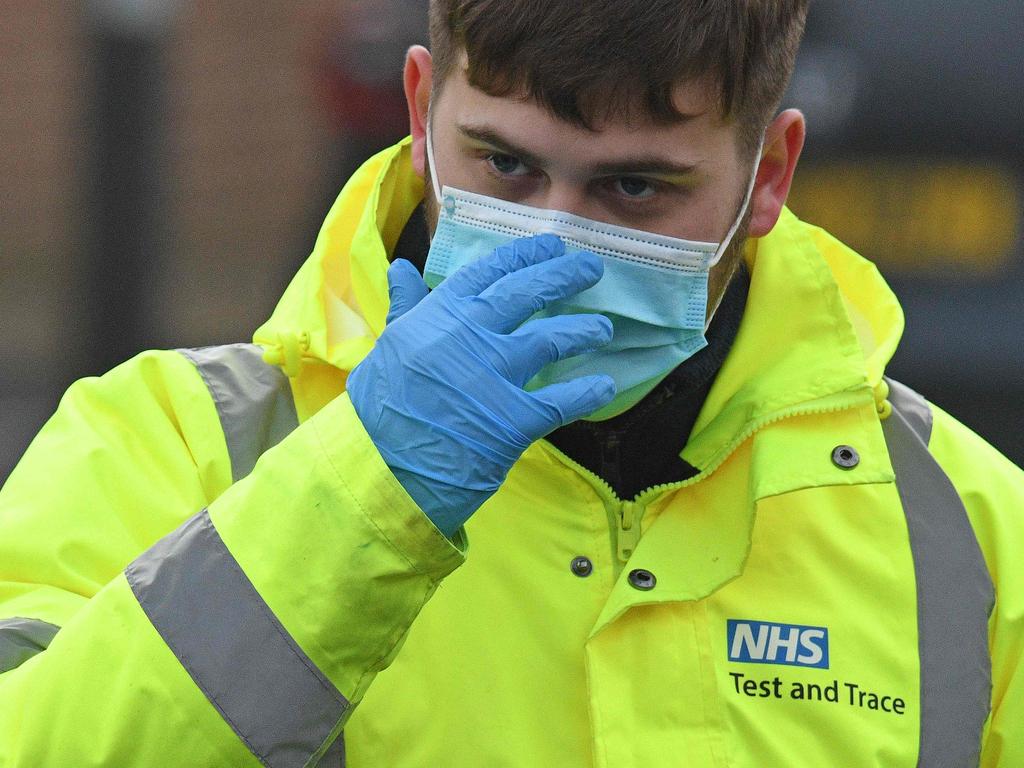
{"type": "MultiPolygon", "coordinates": [[[[872,395],[873,401],[873,395],[872,395]]],[[[862,403],[860,402],[848,402],[838,406],[817,406],[812,408],[794,408],[785,411],[779,411],[767,417],[762,417],[756,421],[751,422],[746,429],[740,432],[732,442],[728,443],[727,446],[719,452],[712,463],[708,465],[703,470],[693,477],[687,478],[685,480],[680,480],[678,482],[668,482],[660,485],[652,485],[649,488],[637,494],[632,500],[620,499],[612,489],[611,485],[604,480],[604,478],[591,472],[589,469],[573,461],[571,458],[563,454],[555,445],[543,440],[544,445],[553,453],[563,464],[574,469],[585,478],[587,478],[591,485],[594,486],[598,495],[601,497],[601,501],[604,502],[605,510],[608,513],[608,522],[611,530],[615,531],[614,538],[615,542],[612,547],[612,554],[616,558],[617,562],[622,565],[629,561],[633,552],[636,550],[637,544],[640,542],[640,524],[643,519],[644,510],[647,505],[654,500],[654,498],[660,496],[670,490],[678,490],[679,488],[687,487],[688,485],[693,485],[705,477],[710,475],[716,469],[718,469],[722,464],[725,463],[732,453],[739,447],[743,442],[745,442],[755,432],[764,427],[774,424],[784,419],[790,419],[798,416],[816,416],[821,414],[835,414],[841,411],[847,411],[852,408],[857,408],[862,403]]],[[[617,449],[617,441],[615,443],[617,449]]]]}

